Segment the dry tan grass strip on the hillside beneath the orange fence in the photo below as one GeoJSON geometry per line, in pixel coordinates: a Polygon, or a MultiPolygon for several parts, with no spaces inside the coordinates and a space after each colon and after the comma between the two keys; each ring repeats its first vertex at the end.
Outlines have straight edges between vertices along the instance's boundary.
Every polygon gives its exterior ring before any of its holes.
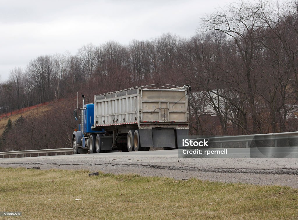
{"type": "Polygon", "coordinates": [[[49,105],[42,105],[42,106],[38,106],[36,108],[32,108],[30,110],[24,111],[22,113],[17,113],[14,115],[9,115],[5,118],[1,118],[0,119],[0,136],[2,135],[5,125],[7,124],[7,121],[10,119],[11,121],[15,121],[17,120],[20,116],[23,117],[27,117],[30,116],[32,114],[43,114],[46,111],[48,111],[51,108],[50,104],[49,105]]]}

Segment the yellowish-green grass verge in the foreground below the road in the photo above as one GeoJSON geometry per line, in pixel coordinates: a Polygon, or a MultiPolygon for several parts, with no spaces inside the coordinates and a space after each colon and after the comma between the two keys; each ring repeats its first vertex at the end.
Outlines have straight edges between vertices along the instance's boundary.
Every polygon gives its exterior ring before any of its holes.
{"type": "Polygon", "coordinates": [[[0,211],[25,219],[298,218],[290,187],[88,173],[0,168],[0,211]]]}

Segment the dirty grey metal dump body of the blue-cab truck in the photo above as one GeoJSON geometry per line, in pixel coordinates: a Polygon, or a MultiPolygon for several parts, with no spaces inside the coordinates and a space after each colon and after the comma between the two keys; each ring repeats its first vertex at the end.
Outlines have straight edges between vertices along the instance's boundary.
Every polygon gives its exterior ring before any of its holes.
{"type": "Polygon", "coordinates": [[[187,88],[135,88],[94,96],[94,127],[188,125],[187,88]]]}

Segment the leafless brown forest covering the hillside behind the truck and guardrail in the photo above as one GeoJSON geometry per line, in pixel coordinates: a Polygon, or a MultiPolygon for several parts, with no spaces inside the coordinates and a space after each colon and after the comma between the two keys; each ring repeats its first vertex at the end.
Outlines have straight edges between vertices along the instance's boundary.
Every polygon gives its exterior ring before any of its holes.
{"type": "Polygon", "coordinates": [[[88,44],[11,70],[0,84],[1,113],[54,104],[7,126],[2,148],[69,147],[77,92],[93,102],[94,94],[153,83],[192,86],[192,134],[297,131],[298,1],[233,3],[198,26],[188,39],[167,33],[128,45],[88,44]]]}

